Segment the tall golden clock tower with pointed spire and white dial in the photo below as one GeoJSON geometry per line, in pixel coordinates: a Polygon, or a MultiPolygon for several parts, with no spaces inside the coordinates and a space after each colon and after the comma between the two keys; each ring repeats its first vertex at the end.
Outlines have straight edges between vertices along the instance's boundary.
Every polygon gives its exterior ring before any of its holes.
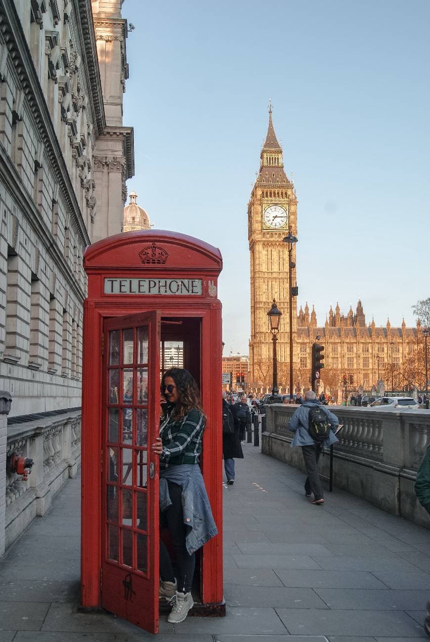
{"type": "MultiPolygon", "coordinates": [[[[282,147],[277,141],[269,105],[269,126],[260,154],[260,171],[248,203],[251,269],[250,379],[271,388],[272,343],[267,313],[273,299],[282,311],[277,341],[278,383],[288,385],[289,283],[288,248],[282,239],[297,236],[297,198],[286,177],[282,147]]],[[[295,263],[295,248],[293,248],[295,263]]],[[[295,269],[293,270],[295,283],[295,269]]],[[[297,303],[293,301],[293,343],[297,333],[297,303]]],[[[297,355],[293,354],[293,362],[297,355]]]]}

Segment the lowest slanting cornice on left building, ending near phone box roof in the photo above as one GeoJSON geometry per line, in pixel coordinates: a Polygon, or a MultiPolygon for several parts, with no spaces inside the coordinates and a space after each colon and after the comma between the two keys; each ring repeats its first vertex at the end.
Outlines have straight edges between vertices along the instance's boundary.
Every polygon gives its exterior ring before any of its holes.
{"type": "MultiPolygon", "coordinates": [[[[17,204],[26,217],[28,225],[35,230],[36,234],[39,236],[44,247],[46,248],[47,254],[51,254],[53,261],[55,262],[55,269],[57,272],[62,272],[64,280],[67,283],[70,291],[73,291],[76,300],[83,303],[85,299],[85,293],[81,290],[76,281],[74,280],[73,272],[65,260],[62,252],[58,245],[56,245],[55,239],[53,238],[49,229],[40,218],[40,212],[35,204],[34,200],[28,195],[25,187],[22,184],[21,178],[19,177],[15,166],[10,160],[6,149],[4,148],[3,143],[0,141],[0,179],[4,184],[8,186],[12,198],[17,204]]],[[[89,240],[85,245],[89,245],[89,240]]]]}

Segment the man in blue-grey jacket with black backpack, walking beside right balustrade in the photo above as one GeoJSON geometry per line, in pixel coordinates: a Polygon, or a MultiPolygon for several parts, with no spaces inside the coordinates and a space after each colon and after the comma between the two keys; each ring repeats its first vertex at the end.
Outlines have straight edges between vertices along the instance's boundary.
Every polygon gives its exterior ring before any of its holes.
{"type": "Polygon", "coordinates": [[[331,446],[338,441],[335,437],[339,420],[327,406],[322,406],[312,390],[305,392],[305,403],[297,408],[289,420],[288,429],[295,433],[291,447],[300,446],[305,461],[307,478],[306,497],[311,504],[323,504],[324,494],[318,474],[318,460],[323,446],[331,446]]]}

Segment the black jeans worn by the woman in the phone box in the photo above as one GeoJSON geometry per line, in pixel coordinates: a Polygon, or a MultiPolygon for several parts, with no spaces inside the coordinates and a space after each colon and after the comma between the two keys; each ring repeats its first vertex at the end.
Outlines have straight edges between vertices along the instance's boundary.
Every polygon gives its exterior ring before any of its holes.
{"type": "MultiPolygon", "coordinates": [[[[184,524],[182,511],[182,486],[168,482],[171,506],[160,513],[160,526],[167,527],[175,549],[176,564],[178,566],[178,591],[189,593],[193,584],[194,566],[196,555],[189,555],[185,546],[187,527],[184,524]]],[[[164,582],[175,582],[169,551],[160,538],[160,577],[164,582]]]]}

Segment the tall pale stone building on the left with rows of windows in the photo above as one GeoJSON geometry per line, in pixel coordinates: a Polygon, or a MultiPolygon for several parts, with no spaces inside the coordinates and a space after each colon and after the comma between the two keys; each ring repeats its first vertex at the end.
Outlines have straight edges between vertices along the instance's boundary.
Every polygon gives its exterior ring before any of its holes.
{"type": "Polygon", "coordinates": [[[0,3],[0,388],[80,406],[83,252],[121,232],[133,130],[121,0],[0,3]]]}

